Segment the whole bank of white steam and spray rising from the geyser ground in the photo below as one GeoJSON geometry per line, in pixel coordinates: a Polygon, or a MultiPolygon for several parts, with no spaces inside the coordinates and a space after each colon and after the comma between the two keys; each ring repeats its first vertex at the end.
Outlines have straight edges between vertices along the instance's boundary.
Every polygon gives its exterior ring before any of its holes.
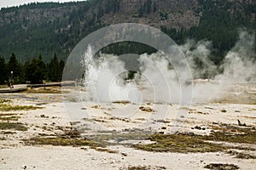
{"type": "Polygon", "coordinates": [[[253,37],[241,31],[235,47],[219,66],[209,58],[211,42],[188,40],[180,48],[189,61],[194,78],[203,77],[205,80],[188,80],[186,87],[181,86],[165,54],[142,54],[135,59],[137,69],[129,69],[119,56],[100,54],[99,58],[93,57],[93,49],[89,47],[83,59],[86,96],[88,100],[101,102],[179,103],[181,96],[186,96],[181,94],[181,88],[186,88],[183,89],[186,93],[193,86],[193,103],[207,102],[220,97],[232,83],[256,81],[253,37]],[[136,72],[133,79],[129,79],[129,70],[136,72]]]}

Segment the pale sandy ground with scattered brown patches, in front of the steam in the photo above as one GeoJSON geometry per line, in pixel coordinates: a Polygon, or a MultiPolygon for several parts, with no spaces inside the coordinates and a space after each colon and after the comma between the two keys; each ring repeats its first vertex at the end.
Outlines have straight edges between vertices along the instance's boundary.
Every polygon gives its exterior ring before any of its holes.
{"type": "Polygon", "coordinates": [[[255,134],[256,88],[250,89],[191,106],[79,102],[68,90],[67,94],[42,94],[42,89],[36,94],[1,94],[4,104],[39,108],[0,109],[0,169],[206,169],[207,165],[212,169],[255,169],[255,138],[247,138],[247,132],[255,134]],[[25,129],[4,127],[6,123],[18,123],[25,129]],[[221,150],[201,150],[196,143],[183,145],[183,140],[218,131],[231,137],[207,142],[219,144],[216,147],[221,150]],[[164,138],[182,134],[182,138],[173,147],[168,143],[156,146],[163,150],[150,150],[150,144],[160,142],[152,134],[164,138]],[[238,140],[243,134],[244,141],[238,140]],[[137,147],[143,144],[149,144],[149,149],[137,147]]]}

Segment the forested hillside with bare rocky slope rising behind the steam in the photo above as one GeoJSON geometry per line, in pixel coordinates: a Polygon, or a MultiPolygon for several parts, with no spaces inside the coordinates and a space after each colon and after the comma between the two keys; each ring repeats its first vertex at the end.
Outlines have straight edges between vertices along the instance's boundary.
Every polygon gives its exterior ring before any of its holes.
{"type": "MultiPolygon", "coordinates": [[[[127,22],[154,26],[177,44],[188,38],[211,41],[211,59],[220,65],[239,29],[256,32],[255,15],[253,0],[88,0],[1,8],[0,83],[14,69],[19,74],[15,75],[17,82],[58,81],[68,54],[81,39],[103,26],[127,22]]],[[[154,50],[123,42],[103,52],[143,54],[154,50]]]]}

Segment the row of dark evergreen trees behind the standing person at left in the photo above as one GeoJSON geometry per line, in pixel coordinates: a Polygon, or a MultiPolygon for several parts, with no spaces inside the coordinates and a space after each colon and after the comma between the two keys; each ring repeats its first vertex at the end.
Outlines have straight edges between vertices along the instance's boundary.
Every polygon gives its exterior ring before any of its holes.
{"type": "Polygon", "coordinates": [[[44,63],[42,55],[39,54],[38,58],[32,58],[24,65],[18,62],[15,54],[11,54],[9,61],[0,56],[0,84],[9,82],[11,71],[14,72],[15,83],[43,83],[44,80],[60,82],[64,66],[64,61],[58,59],[56,54],[49,63],[44,63]]]}

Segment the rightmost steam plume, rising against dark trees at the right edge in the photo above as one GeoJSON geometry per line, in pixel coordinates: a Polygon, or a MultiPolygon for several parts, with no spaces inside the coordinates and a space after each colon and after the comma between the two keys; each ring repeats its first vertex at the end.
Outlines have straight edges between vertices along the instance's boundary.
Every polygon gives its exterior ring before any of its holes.
{"type": "Polygon", "coordinates": [[[224,73],[215,77],[221,82],[256,82],[254,35],[241,31],[234,48],[225,56],[224,73]],[[254,58],[253,58],[254,57],[254,58]]]}

